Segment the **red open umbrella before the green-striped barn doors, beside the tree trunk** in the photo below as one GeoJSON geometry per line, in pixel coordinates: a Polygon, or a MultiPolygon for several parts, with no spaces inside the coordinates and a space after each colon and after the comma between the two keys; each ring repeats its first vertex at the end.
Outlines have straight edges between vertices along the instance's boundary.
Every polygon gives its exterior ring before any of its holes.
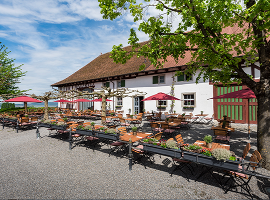
{"type": "Polygon", "coordinates": [[[256,98],[254,92],[250,88],[240,89],[238,91],[233,91],[230,93],[222,94],[208,99],[215,98],[245,98],[248,102],[248,139],[250,139],[250,130],[249,130],[249,99],[256,98]]]}

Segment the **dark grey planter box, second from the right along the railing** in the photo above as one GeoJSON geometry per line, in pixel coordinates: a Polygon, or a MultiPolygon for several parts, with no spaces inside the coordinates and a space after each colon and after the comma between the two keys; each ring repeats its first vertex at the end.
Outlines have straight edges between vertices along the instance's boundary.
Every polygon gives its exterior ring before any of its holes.
{"type": "Polygon", "coordinates": [[[178,149],[172,149],[172,148],[163,148],[161,146],[153,145],[153,144],[148,144],[148,143],[141,143],[143,145],[143,150],[152,152],[152,153],[157,153],[161,155],[165,155],[168,157],[176,157],[176,158],[181,158],[182,157],[182,150],[178,149]]]}

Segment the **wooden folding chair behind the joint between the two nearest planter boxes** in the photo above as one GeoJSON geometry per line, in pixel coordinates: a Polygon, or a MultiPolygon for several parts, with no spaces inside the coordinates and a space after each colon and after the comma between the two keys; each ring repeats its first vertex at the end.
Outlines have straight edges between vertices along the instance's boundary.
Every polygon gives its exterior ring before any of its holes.
{"type": "MultiPolygon", "coordinates": [[[[171,138],[170,138],[170,139],[171,139],[171,138]]],[[[172,138],[172,139],[173,139],[173,138],[172,138]]],[[[176,142],[177,142],[177,143],[183,143],[183,139],[182,139],[182,135],[181,135],[181,134],[177,134],[177,135],[175,136],[175,139],[176,139],[176,142]]],[[[174,171],[180,170],[181,172],[183,172],[183,173],[185,174],[187,180],[189,181],[186,172],[184,172],[184,171],[182,170],[182,168],[183,168],[184,166],[186,166],[186,167],[190,170],[191,174],[193,175],[192,170],[193,170],[193,172],[194,172],[194,169],[193,169],[193,167],[192,167],[191,164],[190,164],[191,162],[190,162],[190,161],[187,161],[187,160],[184,160],[184,159],[178,159],[178,158],[175,158],[175,157],[172,158],[172,161],[173,161],[173,164],[174,164],[175,168],[172,170],[170,176],[172,176],[172,174],[173,174],[174,171]],[[177,165],[177,162],[179,163],[178,165],[177,165]],[[190,167],[192,168],[192,170],[191,170],[190,167]]]]}

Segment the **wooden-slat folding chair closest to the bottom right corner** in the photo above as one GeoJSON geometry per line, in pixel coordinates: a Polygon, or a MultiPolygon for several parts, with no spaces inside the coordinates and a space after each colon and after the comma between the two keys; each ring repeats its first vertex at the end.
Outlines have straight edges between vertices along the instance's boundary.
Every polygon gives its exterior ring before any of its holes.
{"type": "MultiPolygon", "coordinates": [[[[261,160],[261,155],[260,155],[260,153],[259,153],[257,150],[255,150],[255,151],[252,153],[252,155],[251,155],[251,157],[250,157],[250,159],[249,159],[249,161],[251,161],[251,162],[249,162],[249,164],[248,164],[248,166],[245,168],[245,170],[247,170],[247,169],[249,168],[249,166],[250,166],[250,167],[253,169],[253,172],[254,172],[255,169],[256,169],[256,166],[259,164],[260,160],[261,160]]],[[[242,170],[242,167],[243,167],[243,166],[244,166],[244,165],[242,165],[242,166],[239,165],[239,170],[242,170]]],[[[228,180],[230,180],[230,179],[233,180],[233,183],[234,183],[234,184],[231,184],[231,185],[225,190],[225,193],[227,193],[228,190],[231,189],[231,188],[233,188],[233,187],[241,187],[243,190],[247,191],[247,193],[249,194],[249,196],[253,199],[252,195],[251,195],[250,192],[249,192],[249,190],[251,190],[251,189],[250,189],[250,186],[248,185],[248,183],[249,183],[249,181],[250,181],[252,175],[247,175],[247,174],[245,174],[245,173],[240,173],[240,172],[235,172],[235,171],[225,171],[225,174],[223,175],[223,177],[226,176],[226,175],[228,175],[229,178],[226,180],[225,184],[226,184],[226,183],[228,182],[228,180]]]]}

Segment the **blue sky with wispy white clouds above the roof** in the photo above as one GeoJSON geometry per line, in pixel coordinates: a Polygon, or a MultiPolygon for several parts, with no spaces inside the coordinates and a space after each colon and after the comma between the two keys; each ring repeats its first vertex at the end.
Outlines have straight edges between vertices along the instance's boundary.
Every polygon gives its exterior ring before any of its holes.
{"type": "MultiPolygon", "coordinates": [[[[128,45],[133,27],[129,13],[111,21],[102,19],[97,0],[0,0],[0,41],[14,64],[27,71],[20,89],[37,95],[71,75],[113,45],[128,45]]],[[[158,14],[148,10],[149,15],[158,14]]]]}

